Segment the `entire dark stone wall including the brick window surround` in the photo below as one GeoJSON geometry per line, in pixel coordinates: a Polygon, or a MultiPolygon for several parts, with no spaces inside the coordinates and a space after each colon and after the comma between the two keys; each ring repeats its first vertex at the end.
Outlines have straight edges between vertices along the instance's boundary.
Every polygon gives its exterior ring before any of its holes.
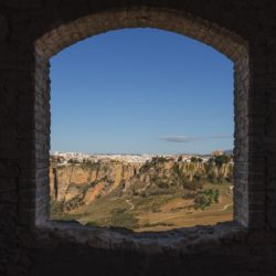
{"type": "Polygon", "coordinates": [[[0,275],[275,275],[273,0],[0,0],[0,275]],[[49,59],[131,26],[202,41],[235,63],[235,222],[164,234],[50,223],[49,59]]]}

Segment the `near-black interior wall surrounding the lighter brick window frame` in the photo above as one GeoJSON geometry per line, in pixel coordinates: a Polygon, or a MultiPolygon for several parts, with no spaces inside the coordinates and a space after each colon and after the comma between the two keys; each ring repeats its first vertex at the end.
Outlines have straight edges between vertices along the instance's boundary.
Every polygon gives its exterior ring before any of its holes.
{"type": "Polygon", "coordinates": [[[0,0],[0,275],[276,275],[275,14],[273,0],[0,0]],[[258,230],[220,237],[219,227],[219,238],[198,238],[189,250],[155,251],[153,236],[152,251],[139,251],[128,243],[97,248],[72,234],[34,226],[40,191],[33,187],[38,178],[47,181],[40,170],[46,160],[39,155],[43,145],[34,142],[41,130],[35,124],[35,41],[88,14],[110,11],[112,21],[113,10],[140,7],[188,12],[248,42],[248,155],[240,173],[250,171],[248,225],[258,230]]]}

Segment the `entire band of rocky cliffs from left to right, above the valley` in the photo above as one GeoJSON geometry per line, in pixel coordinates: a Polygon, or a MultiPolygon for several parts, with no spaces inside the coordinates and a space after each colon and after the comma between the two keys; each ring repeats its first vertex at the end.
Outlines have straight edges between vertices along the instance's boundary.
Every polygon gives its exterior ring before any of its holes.
{"type": "MultiPolygon", "coordinates": [[[[166,189],[198,189],[200,181],[231,179],[233,164],[182,162],[152,159],[144,164],[100,161],[60,164],[50,168],[51,199],[63,205],[63,212],[87,205],[113,191],[144,195],[166,189]]],[[[229,180],[231,181],[231,180],[229,180]]]]}

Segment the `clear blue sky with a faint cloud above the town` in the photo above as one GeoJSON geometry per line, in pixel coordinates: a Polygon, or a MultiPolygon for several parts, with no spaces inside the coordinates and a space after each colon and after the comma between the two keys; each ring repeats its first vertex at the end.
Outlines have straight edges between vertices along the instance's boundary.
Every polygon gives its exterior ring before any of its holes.
{"type": "Polygon", "coordinates": [[[208,153],[233,148],[233,63],[156,29],[78,42],[51,60],[51,151],[208,153]]]}

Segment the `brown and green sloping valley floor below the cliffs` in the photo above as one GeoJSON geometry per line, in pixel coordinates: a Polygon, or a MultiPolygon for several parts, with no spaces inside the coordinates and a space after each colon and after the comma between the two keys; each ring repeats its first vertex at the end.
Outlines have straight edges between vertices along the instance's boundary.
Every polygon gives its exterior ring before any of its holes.
{"type": "Polygon", "coordinates": [[[195,210],[193,200],[183,199],[181,192],[149,197],[117,197],[110,193],[92,204],[82,206],[57,220],[76,220],[84,225],[115,226],[135,232],[167,231],[194,225],[213,225],[233,220],[233,198],[224,184],[204,185],[220,190],[219,202],[204,210],[195,210]]]}

